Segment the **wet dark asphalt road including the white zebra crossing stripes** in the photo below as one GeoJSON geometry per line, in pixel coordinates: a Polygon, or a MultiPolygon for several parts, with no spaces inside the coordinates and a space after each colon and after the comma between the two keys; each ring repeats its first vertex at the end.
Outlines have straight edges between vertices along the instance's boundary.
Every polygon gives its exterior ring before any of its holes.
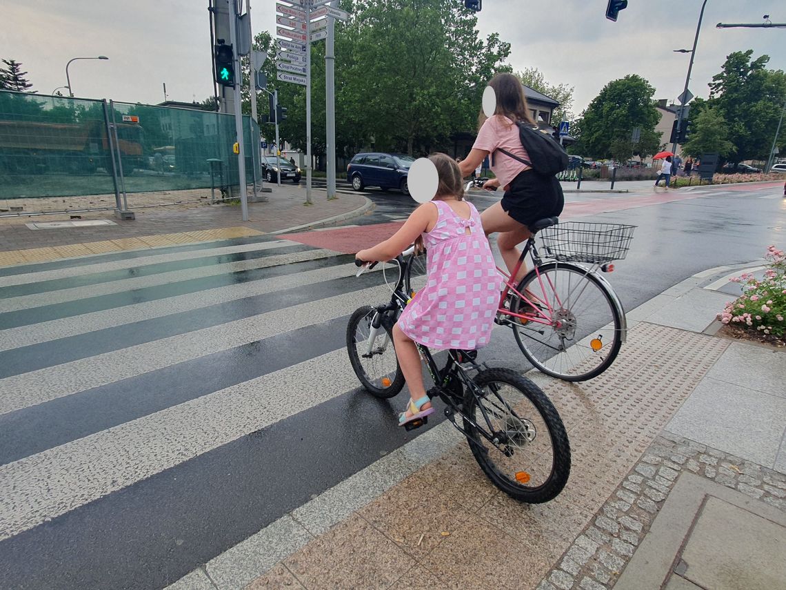
{"type": "MultiPolygon", "coordinates": [[[[413,209],[367,194],[365,239],[413,209]]],[[[638,226],[608,277],[626,309],[784,246],[782,187],[692,194],[566,194],[638,226]]],[[[281,240],[0,269],[0,588],[161,588],[420,433],[343,352],[379,273],[281,240]]],[[[482,360],[527,368],[509,334],[482,360]]]]}

